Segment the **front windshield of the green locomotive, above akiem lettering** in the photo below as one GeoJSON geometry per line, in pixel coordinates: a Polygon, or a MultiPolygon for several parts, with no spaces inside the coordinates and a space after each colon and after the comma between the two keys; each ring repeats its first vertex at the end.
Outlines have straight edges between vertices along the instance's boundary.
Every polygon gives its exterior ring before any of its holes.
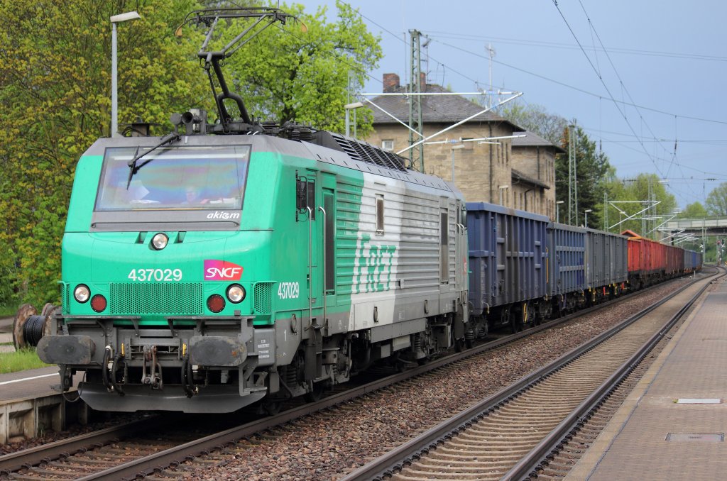
{"type": "Polygon", "coordinates": [[[128,183],[129,161],[139,153],[106,150],[96,211],[242,208],[249,145],[160,148],[145,155],[148,162],[128,183]]]}

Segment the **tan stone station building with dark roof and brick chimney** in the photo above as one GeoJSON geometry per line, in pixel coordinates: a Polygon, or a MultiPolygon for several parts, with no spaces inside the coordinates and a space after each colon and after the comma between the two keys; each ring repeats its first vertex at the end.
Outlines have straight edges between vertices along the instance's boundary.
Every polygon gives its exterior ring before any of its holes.
{"type": "MultiPolygon", "coordinates": [[[[447,89],[427,84],[420,78],[422,92],[443,94],[447,89]]],[[[384,93],[405,93],[395,73],[384,74],[384,93]]],[[[371,99],[374,132],[366,141],[385,150],[398,152],[409,146],[409,97],[382,95],[371,99]]],[[[455,94],[422,96],[422,125],[425,137],[446,129],[484,110],[455,94]]],[[[502,203],[555,218],[555,153],[562,152],[546,140],[493,112],[482,113],[462,125],[431,139],[447,140],[424,145],[424,171],[445,180],[452,179],[468,202],[502,203]],[[491,137],[523,135],[513,139],[481,141],[491,137]],[[497,142],[497,143],[486,143],[497,142]]],[[[409,153],[402,153],[408,157],[409,153]]],[[[417,169],[421,166],[416,165],[417,169]]]]}

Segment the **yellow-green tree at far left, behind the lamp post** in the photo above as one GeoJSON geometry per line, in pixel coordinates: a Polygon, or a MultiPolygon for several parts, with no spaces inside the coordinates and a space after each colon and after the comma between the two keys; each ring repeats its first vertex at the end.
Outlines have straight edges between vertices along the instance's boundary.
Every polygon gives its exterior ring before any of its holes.
{"type": "MultiPolygon", "coordinates": [[[[60,238],[79,155],[111,124],[109,17],[119,25],[119,122],[164,122],[203,94],[193,52],[174,28],[193,1],[69,0],[0,4],[0,302],[58,302],[60,238]],[[198,79],[198,80],[197,80],[198,79]],[[172,110],[173,111],[173,110],[172,110]]],[[[168,129],[168,127],[164,127],[168,129]]]]}

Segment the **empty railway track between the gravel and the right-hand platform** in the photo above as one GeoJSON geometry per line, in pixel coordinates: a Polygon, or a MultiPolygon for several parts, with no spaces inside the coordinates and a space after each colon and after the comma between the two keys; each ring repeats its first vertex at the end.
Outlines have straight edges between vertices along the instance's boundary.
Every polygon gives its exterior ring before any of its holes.
{"type": "Polygon", "coordinates": [[[560,477],[563,469],[555,467],[567,462],[561,458],[550,468],[551,460],[709,283],[686,286],[342,481],[560,477]]]}

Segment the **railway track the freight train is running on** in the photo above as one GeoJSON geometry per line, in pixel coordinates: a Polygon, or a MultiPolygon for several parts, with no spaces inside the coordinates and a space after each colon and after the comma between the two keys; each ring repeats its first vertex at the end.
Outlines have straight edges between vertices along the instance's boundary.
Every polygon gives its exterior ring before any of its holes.
{"type": "MultiPolygon", "coordinates": [[[[591,308],[591,310],[608,307],[623,299],[625,298],[601,304],[591,308]]],[[[577,315],[583,315],[584,312],[588,311],[581,311],[577,315]]],[[[155,472],[161,472],[165,466],[177,465],[185,459],[188,460],[200,454],[207,455],[204,462],[214,464],[220,460],[216,461],[215,455],[209,453],[219,452],[220,450],[229,452],[230,449],[233,449],[230,448],[230,443],[237,440],[265,432],[276,426],[279,427],[281,424],[300,419],[310,413],[342,405],[347,400],[411,379],[414,376],[420,376],[427,371],[433,371],[447,364],[455,363],[465,357],[477,355],[516,341],[545,328],[553,327],[558,323],[567,322],[573,317],[575,316],[553,320],[543,326],[483,344],[467,352],[434,360],[427,365],[411,369],[405,373],[386,376],[384,379],[340,392],[326,397],[318,403],[302,405],[285,411],[278,416],[259,419],[214,434],[200,436],[191,435],[187,432],[170,437],[160,437],[153,433],[166,432],[166,429],[161,425],[164,424],[164,421],[153,421],[161,423],[157,427],[153,427],[150,424],[151,421],[142,421],[141,424],[109,428],[103,430],[103,432],[89,433],[71,440],[59,441],[52,443],[52,445],[2,456],[0,457],[0,473],[4,472],[7,476],[25,480],[47,479],[49,476],[58,479],[76,479],[79,478],[79,475],[82,475],[80,479],[84,480],[119,480],[130,479],[137,475],[150,476],[155,472]],[[139,434],[149,432],[153,434],[150,437],[139,434]],[[69,474],[62,474],[64,471],[69,474]]],[[[179,421],[169,421],[169,419],[166,421],[166,425],[175,424],[179,424],[179,421]]]]}

